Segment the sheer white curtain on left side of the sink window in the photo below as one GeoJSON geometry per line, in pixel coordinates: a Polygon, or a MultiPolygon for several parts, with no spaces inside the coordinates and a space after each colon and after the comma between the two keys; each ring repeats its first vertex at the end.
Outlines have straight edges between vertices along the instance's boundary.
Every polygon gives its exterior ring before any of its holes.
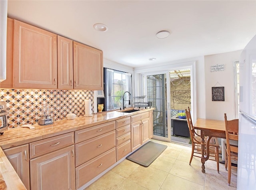
{"type": "Polygon", "coordinates": [[[112,101],[111,92],[114,82],[114,71],[111,69],[106,70],[106,88],[107,88],[107,111],[114,110],[114,102],[112,101]]]}

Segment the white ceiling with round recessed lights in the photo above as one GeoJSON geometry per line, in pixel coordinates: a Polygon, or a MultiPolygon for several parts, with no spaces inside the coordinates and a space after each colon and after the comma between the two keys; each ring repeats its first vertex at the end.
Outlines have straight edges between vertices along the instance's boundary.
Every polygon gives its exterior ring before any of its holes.
{"type": "Polygon", "coordinates": [[[243,49],[256,35],[256,1],[245,0],[8,0],[8,17],[101,49],[105,59],[130,67],[243,49]],[[108,31],[97,32],[96,23],[108,31]],[[170,36],[156,38],[161,30],[170,36]]]}

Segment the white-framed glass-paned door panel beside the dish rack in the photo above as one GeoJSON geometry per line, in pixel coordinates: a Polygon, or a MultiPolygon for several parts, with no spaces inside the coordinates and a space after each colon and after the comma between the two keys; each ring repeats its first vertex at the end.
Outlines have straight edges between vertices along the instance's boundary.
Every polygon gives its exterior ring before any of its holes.
{"type": "Polygon", "coordinates": [[[169,71],[144,75],[146,101],[152,102],[153,138],[171,141],[169,71]]]}

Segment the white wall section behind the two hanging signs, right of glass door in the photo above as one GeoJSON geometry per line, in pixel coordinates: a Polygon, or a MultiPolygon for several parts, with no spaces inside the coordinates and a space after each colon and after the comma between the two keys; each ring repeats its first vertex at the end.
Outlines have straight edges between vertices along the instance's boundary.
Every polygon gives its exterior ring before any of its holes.
{"type": "Polygon", "coordinates": [[[207,119],[224,120],[227,113],[228,120],[235,119],[234,100],[234,66],[233,61],[239,60],[242,50],[204,57],[205,64],[205,99],[207,119]],[[211,65],[224,64],[224,71],[210,72],[211,65]],[[216,85],[216,83],[220,83],[216,85]],[[212,101],[212,87],[224,86],[225,101],[212,101]]]}

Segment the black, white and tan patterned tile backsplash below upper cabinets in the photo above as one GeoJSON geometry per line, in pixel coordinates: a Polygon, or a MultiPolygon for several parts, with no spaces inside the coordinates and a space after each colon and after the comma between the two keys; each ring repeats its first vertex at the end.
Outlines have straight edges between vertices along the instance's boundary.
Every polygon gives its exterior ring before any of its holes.
{"type": "Polygon", "coordinates": [[[54,121],[65,119],[68,113],[84,115],[84,100],[91,100],[94,111],[93,91],[86,90],[37,90],[0,89],[0,101],[7,103],[8,126],[36,124],[41,115],[42,103],[48,103],[54,121]]]}

